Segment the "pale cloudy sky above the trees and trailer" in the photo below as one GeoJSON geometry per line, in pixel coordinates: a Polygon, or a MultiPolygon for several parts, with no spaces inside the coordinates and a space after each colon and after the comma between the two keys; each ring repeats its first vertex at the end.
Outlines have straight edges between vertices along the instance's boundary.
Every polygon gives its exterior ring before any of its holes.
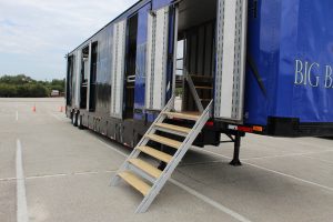
{"type": "Polygon", "coordinates": [[[0,75],[63,79],[64,56],[138,0],[0,0],[0,75]]]}

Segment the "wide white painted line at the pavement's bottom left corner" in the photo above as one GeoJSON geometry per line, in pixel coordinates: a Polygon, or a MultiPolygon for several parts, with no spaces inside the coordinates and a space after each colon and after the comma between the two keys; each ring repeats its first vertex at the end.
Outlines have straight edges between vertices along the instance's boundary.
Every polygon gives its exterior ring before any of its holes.
{"type": "Polygon", "coordinates": [[[22,164],[22,145],[20,140],[17,140],[17,221],[29,221],[26,195],[26,180],[22,164]]]}

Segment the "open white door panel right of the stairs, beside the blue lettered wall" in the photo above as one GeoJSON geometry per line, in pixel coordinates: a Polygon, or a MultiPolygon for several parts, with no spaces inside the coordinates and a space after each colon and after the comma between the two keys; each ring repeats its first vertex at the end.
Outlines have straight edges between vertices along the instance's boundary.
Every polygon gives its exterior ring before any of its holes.
{"type": "Polygon", "coordinates": [[[218,4],[214,117],[242,123],[248,0],[219,0],[218,4]]]}

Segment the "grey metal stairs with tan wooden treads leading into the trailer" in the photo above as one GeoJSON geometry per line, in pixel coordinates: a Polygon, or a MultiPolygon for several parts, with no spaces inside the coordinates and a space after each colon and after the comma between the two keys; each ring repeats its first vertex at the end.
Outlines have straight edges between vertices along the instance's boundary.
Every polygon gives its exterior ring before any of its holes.
{"type": "Polygon", "coordinates": [[[173,112],[173,104],[174,97],[168,102],[160,115],[152,123],[135,149],[111,180],[111,185],[117,185],[122,179],[144,196],[135,211],[137,213],[143,213],[148,210],[211,117],[210,111],[212,101],[205,110],[199,114],[173,112]],[[168,119],[188,120],[192,121],[194,125],[190,129],[165,123],[164,121],[168,119]],[[181,137],[183,138],[183,141],[180,142],[167,138],[165,135],[158,135],[158,132],[167,132],[169,134],[181,137]],[[150,141],[171,147],[175,150],[174,155],[150,148],[148,145],[150,141]],[[148,154],[159,161],[163,161],[167,163],[165,169],[161,171],[140,159],[141,153],[148,154]]]}

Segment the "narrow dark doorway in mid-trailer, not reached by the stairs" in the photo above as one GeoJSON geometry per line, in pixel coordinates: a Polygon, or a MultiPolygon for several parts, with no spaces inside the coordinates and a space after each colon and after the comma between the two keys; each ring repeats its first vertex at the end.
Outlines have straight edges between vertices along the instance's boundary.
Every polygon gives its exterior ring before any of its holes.
{"type": "Polygon", "coordinates": [[[133,119],[137,75],[138,14],[128,20],[125,49],[124,119],[133,119]]]}

